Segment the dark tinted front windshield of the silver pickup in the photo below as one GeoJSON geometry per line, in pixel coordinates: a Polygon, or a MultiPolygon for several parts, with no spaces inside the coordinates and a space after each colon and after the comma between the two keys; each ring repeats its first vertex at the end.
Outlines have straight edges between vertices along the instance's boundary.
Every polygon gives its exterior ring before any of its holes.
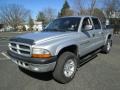
{"type": "Polygon", "coordinates": [[[50,23],[44,31],[77,31],[79,23],[79,17],[60,18],[50,23]]]}

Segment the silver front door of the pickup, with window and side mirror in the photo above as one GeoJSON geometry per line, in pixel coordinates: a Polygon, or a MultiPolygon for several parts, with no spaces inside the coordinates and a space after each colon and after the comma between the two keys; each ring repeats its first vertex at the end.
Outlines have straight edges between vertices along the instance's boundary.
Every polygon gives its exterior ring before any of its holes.
{"type": "Polygon", "coordinates": [[[82,21],[81,32],[80,32],[80,56],[93,51],[94,41],[94,30],[93,24],[89,17],[86,17],[82,21]]]}

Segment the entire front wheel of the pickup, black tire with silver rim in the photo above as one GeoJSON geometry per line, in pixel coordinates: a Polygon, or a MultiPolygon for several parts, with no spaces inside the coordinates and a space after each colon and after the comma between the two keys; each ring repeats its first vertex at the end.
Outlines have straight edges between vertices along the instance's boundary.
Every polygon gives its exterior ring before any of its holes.
{"type": "Polygon", "coordinates": [[[53,77],[60,83],[70,82],[76,73],[77,57],[72,52],[64,52],[58,58],[53,77]]]}

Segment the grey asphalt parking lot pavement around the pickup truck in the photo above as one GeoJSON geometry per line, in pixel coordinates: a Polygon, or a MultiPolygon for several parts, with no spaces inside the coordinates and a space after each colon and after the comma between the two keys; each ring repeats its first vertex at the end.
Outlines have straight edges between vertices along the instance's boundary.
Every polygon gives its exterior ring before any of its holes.
{"type": "Polygon", "coordinates": [[[0,90],[120,90],[119,36],[114,37],[109,54],[99,53],[78,69],[73,81],[60,84],[51,73],[33,73],[11,62],[6,56],[7,43],[17,34],[0,33],[0,90]]]}

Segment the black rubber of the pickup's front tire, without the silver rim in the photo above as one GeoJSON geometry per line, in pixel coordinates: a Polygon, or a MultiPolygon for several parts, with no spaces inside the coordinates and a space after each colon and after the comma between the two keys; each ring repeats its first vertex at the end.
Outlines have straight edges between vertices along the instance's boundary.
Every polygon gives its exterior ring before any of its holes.
{"type": "Polygon", "coordinates": [[[57,61],[57,65],[56,65],[56,68],[53,72],[53,76],[58,82],[67,83],[74,78],[76,70],[77,70],[77,57],[76,57],[76,55],[73,54],[72,52],[64,52],[62,55],[60,55],[60,57],[57,61]],[[66,62],[69,59],[72,59],[74,61],[75,71],[70,77],[66,77],[64,75],[64,65],[66,64],[66,62]]]}

